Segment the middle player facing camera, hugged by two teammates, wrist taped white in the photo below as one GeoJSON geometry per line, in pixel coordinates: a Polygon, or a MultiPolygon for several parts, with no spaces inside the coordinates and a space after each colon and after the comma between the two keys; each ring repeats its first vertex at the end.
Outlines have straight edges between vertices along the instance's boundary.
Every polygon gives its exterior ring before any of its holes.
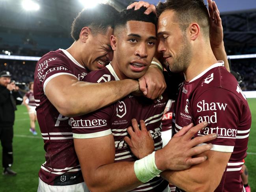
{"type": "MultiPolygon", "coordinates": [[[[114,35],[111,36],[111,46],[114,50],[112,62],[105,69],[90,72],[84,78],[85,81],[101,83],[137,79],[144,75],[155,54],[157,42],[156,16],[153,13],[145,15],[144,11],[145,9],[140,8],[120,13],[115,21],[114,35]]],[[[76,153],[84,181],[90,191],[168,192],[168,182],[156,177],[161,172],[159,166],[162,171],[183,170],[189,167],[184,165],[186,159],[191,162],[190,165],[206,159],[205,156],[191,158],[211,148],[211,145],[203,145],[191,149],[202,142],[191,140],[200,127],[192,128],[185,137],[176,136],[161,149],[161,119],[167,101],[166,93],[156,102],[128,95],[90,114],[71,117],[76,153]],[[142,126],[140,131],[135,119],[143,119],[148,125],[147,129],[142,126]],[[144,144],[152,145],[153,150],[147,151],[142,147],[139,153],[131,153],[125,143],[129,142],[126,137],[128,132],[133,134],[131,127],[128,128],[131,121],[135,127],[134,134],[152,136],[153,139],[144,140],[144,144]],[[181,143],[184,145],[179,145],[181,143]],[[153,152],[157,149],[157,152],[153,152]],[[159,151],[162,151],[161,155],[159,151]],[[151,154],[144,157],[148,152],[151,154]]],[[[215,136],[216,134],[213,134],[201,139],[212,140],[215,136]]]]}

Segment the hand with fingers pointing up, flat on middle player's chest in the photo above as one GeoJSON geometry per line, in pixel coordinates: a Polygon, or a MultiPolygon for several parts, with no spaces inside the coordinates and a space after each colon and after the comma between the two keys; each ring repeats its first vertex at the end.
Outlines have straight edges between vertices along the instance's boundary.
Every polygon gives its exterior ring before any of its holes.
{"type": "Polygon", "coordinates": [[[133,127],[127,129],[131,138],[126,136],[124,140],[129,145],[133,155],[141,159],[155,151],[154,140],[143,120],[140,120],[141,129],[138,127],[136,119],[132,119],[132,125],[133,127]]]}

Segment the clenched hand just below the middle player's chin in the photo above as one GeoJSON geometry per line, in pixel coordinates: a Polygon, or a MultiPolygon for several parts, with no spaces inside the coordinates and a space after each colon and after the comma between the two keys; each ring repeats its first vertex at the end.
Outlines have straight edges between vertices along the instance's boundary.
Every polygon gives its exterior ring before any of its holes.
{"type": "Polygon", "coordinates": [[[149,99],[160,97],[166,89],[163,72],[157,67],[149,67],[148,71],[139,79],[140,90],[149,99]]]}

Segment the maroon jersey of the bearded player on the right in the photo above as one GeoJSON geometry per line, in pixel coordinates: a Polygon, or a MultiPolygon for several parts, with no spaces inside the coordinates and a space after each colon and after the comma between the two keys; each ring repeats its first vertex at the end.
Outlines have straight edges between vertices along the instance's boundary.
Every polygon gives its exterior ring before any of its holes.
{"type": "MultiPolygon", "coordinates": [[[[213,151],[232,153],[215,192],[243,192],[240,170],[246,157],[251,114],[246,98],[223,62],[215,63],[179,89],[174,106],[174,132],[208,121],[196,136],[217,133],[213,151]]],[[[178,191],[182,191],[179,190],[178,191]]]]}

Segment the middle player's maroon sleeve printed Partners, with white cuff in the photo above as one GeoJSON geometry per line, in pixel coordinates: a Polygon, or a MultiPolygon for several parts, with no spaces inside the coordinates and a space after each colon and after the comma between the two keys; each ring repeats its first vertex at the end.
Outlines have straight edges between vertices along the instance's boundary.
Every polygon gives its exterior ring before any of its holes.
{"type": "Polygon", "coordinates": [[[97,138],[112,134],[110,118],[112,105],[101,108],[90,114],[70,118],[73,138],[97,138]]]}

